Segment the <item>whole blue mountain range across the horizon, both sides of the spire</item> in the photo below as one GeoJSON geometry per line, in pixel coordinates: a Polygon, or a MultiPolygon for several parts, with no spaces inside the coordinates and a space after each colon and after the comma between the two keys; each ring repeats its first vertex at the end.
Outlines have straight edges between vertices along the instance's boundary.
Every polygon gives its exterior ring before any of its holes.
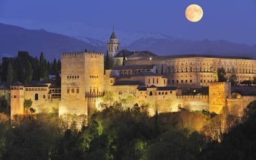
{"type": "MultiPolygon", "coordinates": [[[[18,51],[28,51],[30,55],[37,57],[43,51],[48,60],[54,58],[60,59],[61,53],[78,52],[84,51],[85,49],[87,51],[106,54],[106,42],[89,38],[85,36],[85,33],[80,36],[67,36],[48,32],[44,29],[28,30],[14,25],[0,23],[0,35],[0,58],[3,56],[16,56],[18,51]]],[[[122,36],[117,34],[117,38],[119,37],[122,36]]],[[[133,35],[133,37],[139,37],[139,35],[133,35]]],[[[128,36],[127,39],[129,39],[128,36]]],[[[119,40],[119,42],[121,43],[120,49],[151,51],[159,56],[212,54],[247,56],[256,59],[256,45],[249,46],[226,40],[182,40],[161,33],[145,33],[143,37],[134,40],[127,46],[122,46],[122,41],[119,40]]]]}

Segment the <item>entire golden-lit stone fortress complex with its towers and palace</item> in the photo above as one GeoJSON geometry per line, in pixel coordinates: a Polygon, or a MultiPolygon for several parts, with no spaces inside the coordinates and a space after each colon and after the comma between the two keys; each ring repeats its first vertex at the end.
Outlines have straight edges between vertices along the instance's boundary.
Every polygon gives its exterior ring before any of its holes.
{"type": "Polygon", "coordinates": [[[226,70],[226,77],[237,77],[237,84],[256,77],[256,61],[246,57],[180,55],[157,56],[149,51],[119,51],[114,31],[109,38],[108,56],[113,69],[105,70],[103,53],[62,53],[61,86],[51,81],[11,85],[11,118],[34,112],[84,114],[88,117],[115,101],[122,107],[146,106],[150,116],[156,111],[210,111],[221,114],[228,107],[242,116],[244,107],[256,96],[231,96],[231,83],[218,82],[216,70],[226,70]],[[181,88],[208,86],[206,95],[184,95],[181,88]],[[28,101],[32,104],[28,105],[28,101]]]}

